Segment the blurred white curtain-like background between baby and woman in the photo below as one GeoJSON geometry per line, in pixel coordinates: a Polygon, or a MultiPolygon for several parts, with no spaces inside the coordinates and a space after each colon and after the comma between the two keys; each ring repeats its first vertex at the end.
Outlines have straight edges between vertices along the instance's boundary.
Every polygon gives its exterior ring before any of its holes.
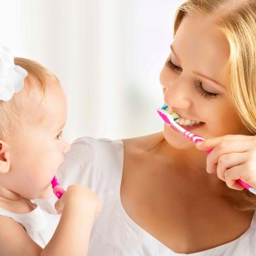
{"type": "Polygon", "coordinates": [[[42,63],[67,93],[64,136],[163,129],[159,72],[183,0],[0,0],[0,44],[42,63]]]}

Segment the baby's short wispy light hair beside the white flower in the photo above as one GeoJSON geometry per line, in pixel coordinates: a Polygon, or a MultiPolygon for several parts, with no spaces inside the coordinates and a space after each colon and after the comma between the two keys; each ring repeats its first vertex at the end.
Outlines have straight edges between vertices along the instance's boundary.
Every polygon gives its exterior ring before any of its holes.
{"type": "Polygon", "coordinates": [[[22,106],[27,103],[29,93],[36,90],[43,99],[48,86],[47,78],[59,82],[52,72],[36,61],[16,57],[14,63],[24,68],[28,74],[25,77],[22,91],[15,93],[10,101],[0,101],[0,139],[2,140],[11,136],[15,127],[20,125],[22,106]]]}

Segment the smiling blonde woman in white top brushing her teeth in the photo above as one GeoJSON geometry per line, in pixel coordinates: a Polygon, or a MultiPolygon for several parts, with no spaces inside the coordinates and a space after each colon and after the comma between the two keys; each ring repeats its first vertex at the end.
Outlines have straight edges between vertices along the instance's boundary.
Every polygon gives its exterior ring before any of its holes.
{"type": "Polygon", "coordinates": [[[76,140],[59,180],[104,202],[88,255],[256,255],[256,196],[235,182],[256,187],[255,46],[256,1],[178,9],[164,101],[208,140],[196,147],[168,125],[140,138],[76,140]]]}

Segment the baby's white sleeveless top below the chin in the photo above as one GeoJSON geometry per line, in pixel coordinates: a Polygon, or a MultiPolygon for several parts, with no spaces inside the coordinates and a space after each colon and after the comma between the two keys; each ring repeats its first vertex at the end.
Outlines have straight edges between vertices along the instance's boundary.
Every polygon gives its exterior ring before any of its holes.
{"type": "Polygon", "coordinates": [[[0,215],[11,217],[14,221],[20,223],[30,238],[41,248],[48,244],[59,222],[58,215],[48,214],[41,210],[39,206],[27,214],[14,214],[0,208],[0,215]]]}

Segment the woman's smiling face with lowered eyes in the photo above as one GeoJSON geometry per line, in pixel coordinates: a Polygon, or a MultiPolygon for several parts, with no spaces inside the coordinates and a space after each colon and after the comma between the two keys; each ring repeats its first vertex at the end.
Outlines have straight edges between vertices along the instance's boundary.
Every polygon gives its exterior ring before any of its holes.
{"type": "MultiPolygon", "coordinates": [[[[249,134],[228,98],[224,69],[229,44],[209,20],[185,16],[161,71],[165,104],[172,107],[185,125],[203,138],[227,134],[249,134]]],[[[193,142],[165,124],[164,135],[175,148],[189,148],[193,142]]]]}

